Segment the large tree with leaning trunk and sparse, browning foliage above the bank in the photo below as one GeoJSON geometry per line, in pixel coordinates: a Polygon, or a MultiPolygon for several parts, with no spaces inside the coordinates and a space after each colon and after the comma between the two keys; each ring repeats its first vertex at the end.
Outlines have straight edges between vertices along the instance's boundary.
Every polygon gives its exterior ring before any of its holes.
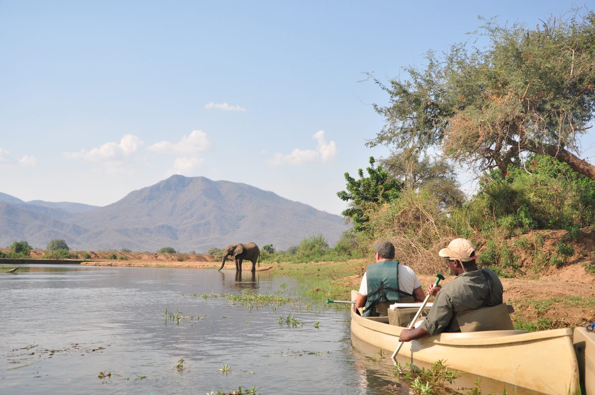
{"type": "Polygon", "coordinates": [[[531,152],[595,180],[595,166],[575,155],[595,116],[595,14],[569,15],[536,29],[484,20],[474,34],[487,37],[485,48],[459,43],[440,58],[430,51],[425,68],[405,69],[409,80],[374,79],[390,105],[374,105],[386,124],[368,146],[439,148],[504,175],[531,152]]]}

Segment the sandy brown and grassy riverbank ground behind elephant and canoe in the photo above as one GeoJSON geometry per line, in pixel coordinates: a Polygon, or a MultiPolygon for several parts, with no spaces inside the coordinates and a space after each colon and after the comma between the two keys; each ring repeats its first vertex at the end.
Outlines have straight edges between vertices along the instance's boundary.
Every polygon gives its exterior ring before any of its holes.
{"type": "MultiPolygon", "coordinates": [[[[272,263],[257,271],[280,271],[297,278],[302,293],[316,300],[349,299],[350,290],[359,289],[365,259],[347,262],[272,263]]],[[[96,261],[81,265],[120,267],[170,267],[218,269],[218,262],[177,261],[96,261]]],[[[249,272],[250,264],[245,265],[249,272]]],[[[445,281],[453,277],[445,268],[445,281]]],[[[436,280],[433,275],[418,275],[425,288],[436,280]]],[[[538,278],[502,278],[504,301],[515,308],[515,326],[525,330],[544,330],[583,326],[595,321],[595,275],[580,264],[549,271],[538,278]]]]}

